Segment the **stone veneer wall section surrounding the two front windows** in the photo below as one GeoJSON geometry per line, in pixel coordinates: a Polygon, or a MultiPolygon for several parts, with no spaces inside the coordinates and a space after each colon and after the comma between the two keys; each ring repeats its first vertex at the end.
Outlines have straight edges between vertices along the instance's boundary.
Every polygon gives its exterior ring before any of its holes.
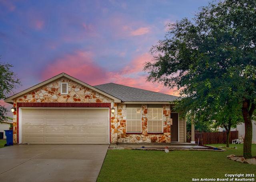
{"type": "Polygon", "coordinates": [[[142,133],[129,134],[126,133],[126,105],[117,104],[117,110],[115,117],[111,120],[111,128],[113,130],[113,141],[120,143],[170,143],[171,133],[170,133],[170,104],[163,105],[163,133],[148,133],[148,108],[146,104],[142,104],[142,133]]]}

